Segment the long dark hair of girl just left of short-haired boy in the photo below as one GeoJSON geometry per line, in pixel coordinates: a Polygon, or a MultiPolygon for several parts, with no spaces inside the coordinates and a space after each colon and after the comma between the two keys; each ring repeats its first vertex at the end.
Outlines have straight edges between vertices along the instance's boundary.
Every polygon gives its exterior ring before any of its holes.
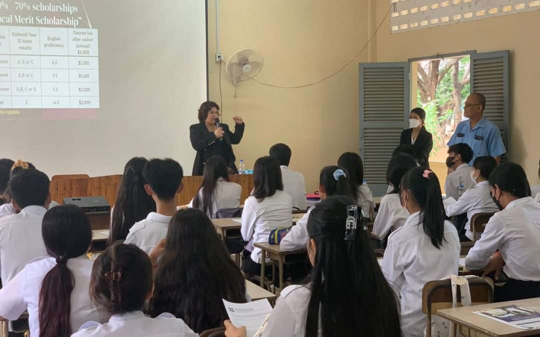
{"type": "Polygon", "coordinates": [[[134,157],[124,167],[112,214],[110,245],[116,240],[124,240],[134,223],[156,211],[156,203],[144,189],[147,182],[143,168],[147,162],[146,158],[134,157]]]}

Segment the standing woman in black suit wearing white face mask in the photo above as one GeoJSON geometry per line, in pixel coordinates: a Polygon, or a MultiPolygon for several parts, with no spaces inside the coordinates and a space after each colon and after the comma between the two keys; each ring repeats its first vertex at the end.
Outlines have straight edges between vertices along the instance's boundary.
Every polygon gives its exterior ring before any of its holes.
{"type": "Polygon", "coordinates": [[[433,135],[424,123],[426,112],[422,108],[414,108],[409,114],[409,129],[401,132],[400,145],[409,145],[414,148],[416,160],[420,166],[429,167],[429,153],[433,149],[433,135]]]}

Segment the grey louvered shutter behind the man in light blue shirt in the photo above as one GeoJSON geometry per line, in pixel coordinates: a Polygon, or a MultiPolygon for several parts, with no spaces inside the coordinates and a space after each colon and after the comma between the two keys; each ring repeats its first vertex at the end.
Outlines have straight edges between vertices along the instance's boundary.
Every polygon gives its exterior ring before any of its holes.
{"type": "Polygon", "coordinates": [[[484,117],[501,130],[507,151],[510,147],[509,51],[471,54],[471,92],[485,96],[484,117]]]}

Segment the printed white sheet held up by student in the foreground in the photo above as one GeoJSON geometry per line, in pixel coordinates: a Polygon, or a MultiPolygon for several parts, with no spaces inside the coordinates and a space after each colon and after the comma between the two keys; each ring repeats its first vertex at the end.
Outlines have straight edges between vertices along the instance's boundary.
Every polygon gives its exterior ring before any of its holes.
{"type": "Polygon", "coordinates": [[[225,310],[232,324],[237,327],[245,326],[247,336],[252,337],[272,312],[272,306],[267,299],[247,303],[232,303],[223,300],[225,310]]]}

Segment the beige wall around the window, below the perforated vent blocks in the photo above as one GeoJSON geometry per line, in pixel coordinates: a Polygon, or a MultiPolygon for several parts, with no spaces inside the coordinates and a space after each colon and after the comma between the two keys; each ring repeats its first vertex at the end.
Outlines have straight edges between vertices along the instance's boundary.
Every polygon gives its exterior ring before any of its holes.
{"type": "MultiPolygon", "coordinates": [[[[371,0],[375,2],[375,0],[371,0]]],[[[376,0],[377,22],[389,8],[389,1],[376,0]]],[[[448,26],[391,35],[389,19],[377,35],[377,61],[406,61],[467,50],[488,52],[510,50],[511,146],[510,160],[521,164],[531,184],[538,183],[540,156],[540,11],[476,20],[448,26]]]]}

